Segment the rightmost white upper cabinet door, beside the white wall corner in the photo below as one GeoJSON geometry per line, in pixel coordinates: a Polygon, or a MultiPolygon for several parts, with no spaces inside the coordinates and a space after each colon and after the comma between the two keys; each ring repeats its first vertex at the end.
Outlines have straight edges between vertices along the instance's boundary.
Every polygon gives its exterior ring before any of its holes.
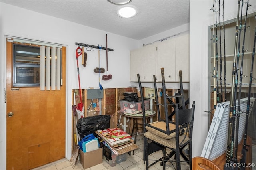
{"type": "Polygon", "coordinates": [[[179,71],[182,71],[182,81],[189,82],[189,34],[176,37],[176,71],[175,79],[180,80],[179,71]]]}

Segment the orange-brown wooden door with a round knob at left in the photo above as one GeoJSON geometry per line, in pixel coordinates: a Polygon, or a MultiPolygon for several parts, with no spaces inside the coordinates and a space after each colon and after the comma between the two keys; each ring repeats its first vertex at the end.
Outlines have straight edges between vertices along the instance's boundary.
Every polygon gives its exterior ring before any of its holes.
{"type": "Polygon", "coordinates": [[[27,170],[65,157],[66,48],[60,90],[12,88],[12,42],[7,42],[7,170],[27,170]],[[8,113],[13,113],[8,117],[8,113]]]}

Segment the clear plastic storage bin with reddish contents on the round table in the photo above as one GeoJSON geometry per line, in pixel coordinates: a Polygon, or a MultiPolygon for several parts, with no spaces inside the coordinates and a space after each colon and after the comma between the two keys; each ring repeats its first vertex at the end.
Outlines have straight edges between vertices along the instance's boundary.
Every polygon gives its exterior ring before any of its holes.
{"type": "MultiPolygon", "coordinates": [[[[137,114],[142,112],[141,98],[138,101],[120,100],[120,108],[122,113],[137,114]]],[[[149,98],[144,98],[145,111],[149,109],[149,98]]]]}

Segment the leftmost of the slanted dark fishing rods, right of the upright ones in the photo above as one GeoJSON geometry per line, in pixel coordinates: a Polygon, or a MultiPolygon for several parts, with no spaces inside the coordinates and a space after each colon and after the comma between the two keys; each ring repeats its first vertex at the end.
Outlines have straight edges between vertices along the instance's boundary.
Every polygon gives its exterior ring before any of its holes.
{"type": "Polygon", "coordinates": [[[230,113],[228,119],[228,139],[227,139],[227,150],[226,150],[226,164],[225,169],[228,168],[230,164],[230,157],[233,157],[233,142],[232,138],[232,128],[233,128],[233,115],[236,113],[234,109],[234,85],[236,77],[236,50],[237,50],[237,39],[238,39],[238,22],[239,22],[239,10],[240,10],[240,0],[238,0],[237,8],[237,18],[236,18],[236,34],[235,34],[235,47],[234,47],[234,60],[233,60],[233,69],[232,69],[232,85],[231,85],[231,95],[230,95],[230,113]]]}

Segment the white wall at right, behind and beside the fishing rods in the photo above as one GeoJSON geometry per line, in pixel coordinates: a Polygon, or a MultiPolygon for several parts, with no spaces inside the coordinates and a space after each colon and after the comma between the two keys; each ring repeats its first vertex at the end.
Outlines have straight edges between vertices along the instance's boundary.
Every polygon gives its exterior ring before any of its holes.
{"type": "MultiPolygon", "coordinates": [[[[224,3],[225,21],[236,18],[238,1],[225,0],[224,3]]],[[[193,157],[201,155],[208,133],[208,115],[204,111],[209,110],[210,103],[208,81],[211,75],[208,74],[208,47],[211,37],[208,37],[208,26],[214,22],[213,12],[210,10],[212,4],[213,1],[210,0],[190,0],[190,101],[196,101],[193,157]]],[[[256,1],[250,0],[249,4],[252,6],[249,7],[248,14],[256,12],[256,1]]],[[[244,14],[245,10],[243,10],[244,14]]]]}

